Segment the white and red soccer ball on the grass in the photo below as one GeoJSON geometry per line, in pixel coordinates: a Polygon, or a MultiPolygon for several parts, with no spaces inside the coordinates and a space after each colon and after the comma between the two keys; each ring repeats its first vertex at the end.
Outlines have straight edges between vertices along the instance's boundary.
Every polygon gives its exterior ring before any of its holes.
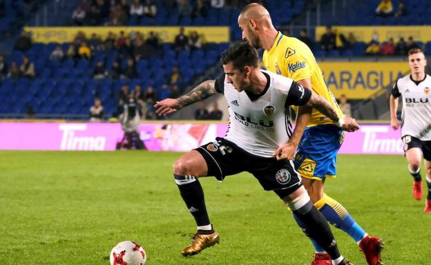
{"type": "Polygon", "coordinates": [[[111,265],[144,265],[146,253],[140,244],[133,241],[119,242],[109,255],[111,265]]]}

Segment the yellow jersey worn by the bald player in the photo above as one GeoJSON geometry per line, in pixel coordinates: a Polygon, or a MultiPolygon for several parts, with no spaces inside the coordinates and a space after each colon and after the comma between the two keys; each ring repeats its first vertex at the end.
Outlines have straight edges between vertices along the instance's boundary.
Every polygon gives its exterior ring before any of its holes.
{"type": "MultiPolygon", "coordinates": [[[[267,70],[289,77],[294,81],[310,78],[314,93],[325,98],[336,109],[339,117],[343,117],[340,107],[323,78],[322,71],[309,47],[302,41],[285,36],[278,32],[271,50],[263,53],[263,63],[267,70]]],[[[334,124],[327,116],[313,109],[312,117],[307,126],[334,124]]]]}

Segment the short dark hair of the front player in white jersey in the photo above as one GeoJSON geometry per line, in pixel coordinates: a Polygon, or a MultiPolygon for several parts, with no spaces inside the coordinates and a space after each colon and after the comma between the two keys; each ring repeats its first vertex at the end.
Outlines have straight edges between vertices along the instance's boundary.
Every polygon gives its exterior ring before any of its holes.
{"type": "Polygon", "coordinates": [[[232,62],[233,68],[241,71],[246,66],[259,67],[259,54],[247,41],[236,41],[223,52],[220,58],[222,65],[230,62],[232,62]]]}

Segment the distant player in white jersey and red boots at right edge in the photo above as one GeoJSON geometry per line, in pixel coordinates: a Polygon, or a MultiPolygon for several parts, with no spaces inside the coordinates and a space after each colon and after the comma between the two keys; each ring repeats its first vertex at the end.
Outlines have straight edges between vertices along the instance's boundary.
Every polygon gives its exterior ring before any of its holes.
{"type": "Polygon", "coordinates": [[[396,117],[398,98],[403,96],[401,138],[404,143],[408,170],[413,176],[413,196],[422,198],[421,150],[425,160],[428,197],[423,211],[431,212],[431,76],[425,74],[426,59],[423,51],[409,51],[410,74],[396,81],[390,96],[391,126],[399,128],[396,117]]]}

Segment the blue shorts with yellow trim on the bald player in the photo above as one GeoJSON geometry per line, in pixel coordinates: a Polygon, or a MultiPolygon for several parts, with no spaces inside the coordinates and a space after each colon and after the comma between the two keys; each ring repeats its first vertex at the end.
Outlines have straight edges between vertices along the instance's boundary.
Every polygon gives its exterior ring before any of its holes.
{"type": "Polygon", "coordinates": [[[335,178],[336,153],[343,140],[344,132],[336,125],[307,127],[294,158],[296,171],[303,178],[335,178]]]}

